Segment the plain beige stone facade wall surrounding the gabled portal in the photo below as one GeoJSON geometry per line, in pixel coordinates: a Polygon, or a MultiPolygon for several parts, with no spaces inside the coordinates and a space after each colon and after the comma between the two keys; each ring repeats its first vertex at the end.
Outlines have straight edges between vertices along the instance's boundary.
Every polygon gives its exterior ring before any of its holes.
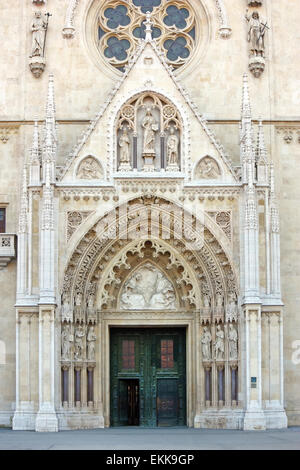
{"type": "MultiPolygon", "coordinates": [[[[54,73],[57,119],[59,125],[58,163],[76,143],[85,124],[94,117],[114,86],[117,75],[96,66],[86,46],[84,18],[89,0],[81,0],[75,15],[74,39],[64,39],[62,28],[66,2],[49,0],[50,18],[46,45],[46,70],[36,79],[28,67],[31,45],[30,24],[34,8],[32,2],[18,0],[13,4],[1,2],[2,18],[0,69],[0,127],[17,126],[9,134],[7,143],[0,140],[0,205],[7,206],[7,232],[16,233],[19,211],[19,187],[24,158],[28,158],[33,120],[44,118],[48,73],[54,73]]],[[[227,14],[232,36],[218,37],[219,21],[213,1],[203,0],[211,24],[205,53],[193,67],[181,75],[186,89],[200,111],[212,121],[212,128],[235,163],[239,162],[238,120],[240,117],[242,75],[248,67],[246,1],[227,0],[227,14]]],[[[266,144],[275,163],[277,190],[281,213],[281,272],[284,310],[284,367],[285,396],[290,424],[300,424],[300,365],[293,364],[293,342],[300,340],[300,217],[299,178],[300,143],[300,82],[299,82],[299,23],[297,0],[265,0],[260,8],[271,30],[267,34],[266,69],[261,78],[249,72],[249,87],[253,118],[259,116],[265,125],[266,144]],[[288,7],[287,7],[288,3],[288,7]],[[293,140],[286,143],[278,127],[293,127],[293,140]]],[[[0,129],[1,130],[1,129],[0,129]]],[[[7,132],[3,130],[3,132],[7,132]]],[[[214,207],[214,203],[211,203],[214,207]]],[[[66,207],[68,205],[66,204],[66,207]]],[[[85,209],[85,202],[72,203],[72,208],[85,209]]],[[[210,208],[209,208],[210,209],[210,208]]],[[[38,204],[34,205],[38,211],[38,204]]],[[[63,212],[64,207],[60,208],[63,212]]],[[[90,210],[90,209],[89,209],[90,210]]],[[[93,210],[93,208],[91,209],[93,210]]],[[[37,220],[37,219],[35,219],[37,220]]],[[[65,237],[64,223],[60,221],[61,237],[65,237]]],[[[37,227],[34,228],[35,233],[37,227]]],[[[238,233],[235,232],[235,240],[238,233]]],[[[38,237],[35,235],[34,256],[37,259],[38,237]]],[[[64,244],[61,243],[61,253],[64,244]]],[[[238,260],[238,247],[234,253],[238,260]]],[[[61,258],[61,263],[66,260],[61,258]]],[[[263,260],[261,259],[261,269],[263,260]]],[[[59,267],[61,272],[62,265],[59,267]]],[[[34,274],[37,286],[37,272],[34,274]]],[[[15,286],[16,263],[0,272],[0,340],[6,343],[6,364],[0,365],[0,410],[10,411],[15,401],[15,286]]],[[[0,414],[1,424],[1,414],[0,414]]]]}

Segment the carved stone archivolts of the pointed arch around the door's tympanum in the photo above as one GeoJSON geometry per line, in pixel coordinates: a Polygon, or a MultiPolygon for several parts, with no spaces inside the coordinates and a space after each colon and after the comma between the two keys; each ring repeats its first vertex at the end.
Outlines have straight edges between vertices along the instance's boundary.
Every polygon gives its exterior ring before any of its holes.
{"type": "MultiPolygon", "coordinates": [[[[141,199],[131,201],[126,210],[117,208],[84,236],[64,274],[63,311],[69,305],[80,319],[86,315],[89,299],[91,312],[100,307],[118,309],[124,280],[130,282],[131,272],[142,263],[151,263],[162,275],[168,273],[166,279],[172,279],[177,308],[200,308],[208,321],[222,320],[225,313],[228,318],[237,317],[236,275],[221,245],[207,227],[202,226],[201,233],[194,217],[183,224],[178,214],[170,214],[166,202],[158,198],[146,204],[141,199]],[[150,221],[151,214],[155,217],[150,221]],[[163,239],[166,216],[170,230],[163,239]]],[[[170,288],[168,295],[171,293],[170,288]]]]}

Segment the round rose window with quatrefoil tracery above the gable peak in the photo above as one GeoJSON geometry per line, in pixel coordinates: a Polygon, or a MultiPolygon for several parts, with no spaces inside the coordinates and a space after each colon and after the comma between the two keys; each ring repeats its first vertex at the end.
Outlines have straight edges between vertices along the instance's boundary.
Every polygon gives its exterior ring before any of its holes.
{"type": "Polygon", "coordinates": [[[98,47],[105,59],[124,71],[130,55],[145,38],[146,13],[151,13],[152,38],[174,68],[184,65],[195,47],[195,14],[182,0],[112,0],[98,17],[98,47]]]}

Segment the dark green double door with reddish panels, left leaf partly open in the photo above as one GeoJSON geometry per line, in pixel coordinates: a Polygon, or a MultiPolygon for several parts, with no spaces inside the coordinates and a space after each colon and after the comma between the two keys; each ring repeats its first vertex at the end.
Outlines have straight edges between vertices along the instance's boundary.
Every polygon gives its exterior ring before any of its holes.
{"type": "Polygon", "coordinates": [[[112,328],[112,426],[186,424],[186,330],[112,328]]]}

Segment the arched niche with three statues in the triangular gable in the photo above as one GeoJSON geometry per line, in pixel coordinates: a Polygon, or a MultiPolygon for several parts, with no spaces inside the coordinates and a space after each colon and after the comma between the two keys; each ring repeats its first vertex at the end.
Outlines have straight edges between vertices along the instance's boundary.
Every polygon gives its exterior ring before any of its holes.
{"type": "Polygon", "coordinates": [[[127,102],[117,123],[118,171],[179,171],[181,128],[175,107],[154,93],[127,102]]]}

